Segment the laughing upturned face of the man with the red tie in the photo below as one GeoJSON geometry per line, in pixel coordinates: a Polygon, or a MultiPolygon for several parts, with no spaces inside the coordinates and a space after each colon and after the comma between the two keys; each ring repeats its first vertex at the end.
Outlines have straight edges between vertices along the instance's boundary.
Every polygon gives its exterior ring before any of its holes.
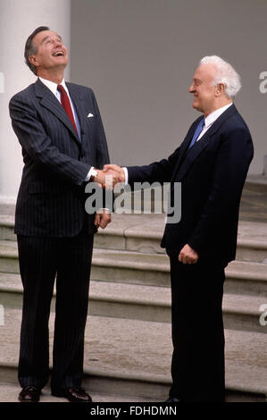
{"type": "Polygon", "coordinates": [[[68,51],[62,38],[53,30],[43,30],[33,38],[37,53],[29,61],[37,68],[38,75],[45,71],[64,69],[68,64],[68,51]]]}

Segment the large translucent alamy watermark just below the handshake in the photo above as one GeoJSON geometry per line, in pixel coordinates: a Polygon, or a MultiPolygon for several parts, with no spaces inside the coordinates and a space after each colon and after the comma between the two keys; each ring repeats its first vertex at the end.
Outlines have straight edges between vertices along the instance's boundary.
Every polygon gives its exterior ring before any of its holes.
{"type": "Polygon", "coordinates": [[[164,213],[166,223],[179,223],[181,218],[180,182],[135,182],[133,189],[120,182],[114,189],[104,190],[96,182],[88,182],[85,192],[90,194],[85,204],[88,214],[100,208],[113,208],[116,214],[164,213]]]}

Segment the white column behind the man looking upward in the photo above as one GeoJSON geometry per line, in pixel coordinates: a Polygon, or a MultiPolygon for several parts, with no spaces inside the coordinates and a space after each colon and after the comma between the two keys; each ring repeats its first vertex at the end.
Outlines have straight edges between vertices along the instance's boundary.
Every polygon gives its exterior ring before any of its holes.
{"type": "Polygon", "coordinates": [[[13,203],[20,186],[21,146],[13,133],[8,104],[37,79],[24,63],[24,46],[38,26],[57,31],[70,49],[71,0],[0,0],[0,202],[13,203]]]}

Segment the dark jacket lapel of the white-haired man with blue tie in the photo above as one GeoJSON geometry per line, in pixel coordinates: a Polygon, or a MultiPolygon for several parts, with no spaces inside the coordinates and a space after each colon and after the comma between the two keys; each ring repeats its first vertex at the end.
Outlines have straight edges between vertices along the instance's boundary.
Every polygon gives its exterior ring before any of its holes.
{"type": "Polygon", "coordinates": [[[226,122],[233,113],[237,113],[237,112],[238,110],[234,104],[229,106],[229,108],[224,113],[221,113],[220,117],[215,122],[213,122],[212,127],[205,132],[202,139],[200,139],[199,141],[196,141],[195,145],[187,150],[187,147],[189,146],[189,141],[192,139],[194,132],[196,130],[196,125],[200,121],[200,119],[203,118],[203,116],[201,116],[200,118],[196,120],[195,124],[193,124],[192,126],[193,130],[189,130],[190,131],[189,139],[187,136],[187,138],[184,140],[184,143],[185,143],[184,149],[186,153],[186,158],[184,159],[180,167],[177,165],[177,167],[179,167],[179,170],[178,172],[175,173],[175,181],[182,180],[182,178],[188,172],[188,169],[190,168],[191,164],[193,164],[194,161],[196,160],[196,157],[204,151],[204,149],[211,143],[211,141],[213,141],[213,135],[221,128],[221,125],[224,122],[226,122]]]}

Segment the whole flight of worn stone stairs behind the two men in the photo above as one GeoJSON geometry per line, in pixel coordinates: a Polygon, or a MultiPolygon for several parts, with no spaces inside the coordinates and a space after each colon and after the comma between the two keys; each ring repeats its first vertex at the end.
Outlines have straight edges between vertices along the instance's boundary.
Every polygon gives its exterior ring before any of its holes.
{"type": "MultiPolygon", "coordinates": [[[[113,214],[113,223],[96,235],[84,363],[84,386],[96,401],[163,401],[168,396],[171,290],[169,260],[159,245],[163,226],[162,214],[113,214]]],[[[239,223],[237,260],[229,264],[226,274],[227,400],[265,401],[267,325],[260,323],[260,315],[267,311],[266,223],[239,223]]],[[[19,391],[21,304],[13,215],[2,214],[0,401],[16,400],[19,391]],[[5,391],[1,399],[3,387],[10,393],[6,396],[5,391]]],[[[53,323],[54,299],[51,350],[53,323]]],[[[46,400],[54,400],[47,390],[46,400]]]]}

